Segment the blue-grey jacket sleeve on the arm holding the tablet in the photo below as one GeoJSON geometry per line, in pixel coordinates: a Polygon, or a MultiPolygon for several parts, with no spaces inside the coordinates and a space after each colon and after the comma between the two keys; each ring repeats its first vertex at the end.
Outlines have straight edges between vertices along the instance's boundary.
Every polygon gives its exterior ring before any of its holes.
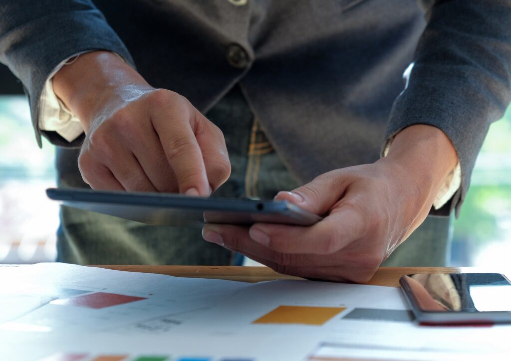
{"type": "Polygon", "coordinates": [[[405,90],[393,104],[386,143],[402,129],[427,124],[452,141],[461,186],[442,208],[459,208],[490,124],[511,101],[511,1],[424,1],[427,26],[405,90]]]}

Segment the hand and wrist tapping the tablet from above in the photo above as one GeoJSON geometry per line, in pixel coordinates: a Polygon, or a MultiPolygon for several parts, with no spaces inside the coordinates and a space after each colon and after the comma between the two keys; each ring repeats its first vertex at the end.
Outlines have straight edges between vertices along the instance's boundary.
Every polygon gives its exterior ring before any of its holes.
{"type": "Polygon", "coordinates": [[[85,130],[78,164],[93,189],[208,196],[230,175],[220,129],[118,56],[81,55],[53,78],[85,130]]]}

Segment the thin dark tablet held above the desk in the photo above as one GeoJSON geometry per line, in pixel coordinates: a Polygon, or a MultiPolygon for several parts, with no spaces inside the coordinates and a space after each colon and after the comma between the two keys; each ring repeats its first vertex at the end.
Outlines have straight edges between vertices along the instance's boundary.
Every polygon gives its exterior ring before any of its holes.
{"type": "Polygon", "coordinates": [[[205,223],[310,226],[321,220],[320,216],[288,201],[91,189],[50,188],[46,193],[64,206],[159,226],[203,227],[205,223]]]}

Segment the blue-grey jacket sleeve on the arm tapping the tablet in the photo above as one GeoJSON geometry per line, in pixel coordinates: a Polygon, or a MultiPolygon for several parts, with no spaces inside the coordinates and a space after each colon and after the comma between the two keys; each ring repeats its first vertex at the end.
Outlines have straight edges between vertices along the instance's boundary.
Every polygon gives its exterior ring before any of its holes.
{"type": "Polygon", "coordinates": [[[85,51],[112,51],[133,66],[125,45],[89,0],[0,0],[0,19],[0,62],[25,88],[38,145],[43,134],[55,145],[79,146],[82,137],[69,143],[39,129],[44,84],[61,61],[85,51]]]}

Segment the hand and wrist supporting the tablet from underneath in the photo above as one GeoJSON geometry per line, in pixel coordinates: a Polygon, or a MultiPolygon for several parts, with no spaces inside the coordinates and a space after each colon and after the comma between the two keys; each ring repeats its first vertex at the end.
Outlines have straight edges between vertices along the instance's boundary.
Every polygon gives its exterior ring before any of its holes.
{"type": "Polygon", "coordinates": [[[326,214],[317,224],[254,224],[249,229],[208,224],[203,236],[280,273],[363,283],[424,221],[456,162],[442,131],[412,126],[376,163],[335,170],[276,196],[326,214]]]}

